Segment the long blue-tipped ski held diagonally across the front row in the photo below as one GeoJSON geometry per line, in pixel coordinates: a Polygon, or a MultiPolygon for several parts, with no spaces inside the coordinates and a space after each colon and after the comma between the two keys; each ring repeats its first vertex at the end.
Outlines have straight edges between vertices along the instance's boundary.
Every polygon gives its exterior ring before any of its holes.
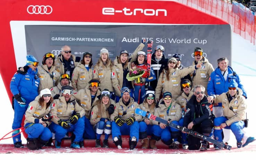
{"type": "Polygon", "coordinates": [[[198,137],[198,138],[200,138],[202,140],[206,140],[206,141],[211,142],[211,143],[213,143],[215,145],[219,145],[219,146],[221,146],[224,149],[230,150],[231,147],[232,147],[232,146],[228,145],[227,142],[223,143],[223,142],[211,139],[210,137],[204,136],[203,134],[200,134],[200,133],[195,132],[195,131],[191,131],[191,130],[185,128],[185,127],[182,127],[180,125],[174,124],[174,123],[171,122],[171,119],[168,119],[168,121],[166,121],[166,120],[164,120],[164,119],[162,119],[160,117],[157,117],[157,116],[151,114],[150,112],[146,112],[146,111],[141,110],[139,108],[135,109],[135,113],[138,114],[138,115],[141,115],[143,117],[146,117],[148,119],[153,119],[153,120],[155,120],[157,122],[166,124],[167,126],[176,128],[177,130],[184,131],[184,132],[186,132],[186,133],[188,133],[190,135],[193,135],[194,137],[198,137]]]}

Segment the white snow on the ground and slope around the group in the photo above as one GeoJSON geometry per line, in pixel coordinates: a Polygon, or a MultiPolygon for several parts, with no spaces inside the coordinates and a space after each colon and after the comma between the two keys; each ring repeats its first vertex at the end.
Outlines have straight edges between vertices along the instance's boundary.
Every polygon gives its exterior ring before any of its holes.
{"type": "MultiPolygon", "coordinates": [[[[254,90],[252,87],[254,86],[254,82],[256,82],[256,46],[251,44],[249,41],[246,41],[239,35],[233,33],[232,34],[232,68],[234,71],[237,72],[237,74],[240,76],[241,82],[245,86],[245,89],[247,91],[247,117],[249,119],[249,127],[245,128],[244,130],[246,131],[248,136],[254,136],[256,137],[255,134],[255,128],[254,124],[256,122],[256,116],[254,115],[254,90]]],[[[211,62],[211,63],[217,63],[217,62],[211,62]]],[[[10,132],[11,125],[12,125],[12,120],[14,116],[14,112],[11,108],[11,103],[9,101],[9,98],[7,96],[7,92],[5,89],[5,86],[3,85],[2,77],[0,75],[0,90],[2,91],[2,94],[0,96],[0,101],[2,102],[2,112],[0,112],[0,117],[1,117],[1,130],[0,130],[0,138],[5,135],[6,133],[10,132]]],[[[232,146],[236,146],[236,140],[233,136],[233,134],[230,134],[230,140],[229,144],[232,146]]],[[[26,140],[23,138],[22,139],[23,143],[25,144],[26,140]]],[[[7,140],[1,140],[0,144],[11,144],[12,139],[7,139],[7,140]]],[[[256,142],[254,142],[255,144],[256,142]]],[[[249,146],[247,146],[249,147],[249,146]]],[[[133,152],[133,151],[130,151],[133,152]]],[[[229,153],[228,150],[226,153],[200,153],[200,155],[197,155],[196,153],[191,153],[191,154],[126,154],[125,156],[122,153],[44,153],[43,155],[49,156],[49,158],[63,158],[63,159],[72,159],[74,157],[80,157],[80,156],[86,156],[84,157],[85,159],[91,158],[93,156],[94,158],[97,159],[115,159],[115,158],[122,158],[122,159],[131,159],[135,157],[131,156],[136,156],[136,159],[155,159],[161,156],[161,159],[165,158],[186,158],[186,159],[195,159],[195,158],[200,158],[200,159],[219,159],[221,157],[225,158],[246,158],[246,159],[255,159],[256,153],[255,152],[250,152],[250,151],[244,151],[244,152],[232,152],[229,153]],[[128,156],[127,156],[128,155],[128,156]],[[88,156],[88,157],[87,157],[88,156]],[[96,157],[97,156],[97,157],[96,157]],[[181,157],[182,156],[182,157],[181,157]]],[[[1,154],[1,159],[2,158],[19,158],[19,159],[27,159],[27,156],[34,157],[36,159],[45,159],[44,156],[41,156],[41,153],[29,153],[29,154],[1,154]]]]}

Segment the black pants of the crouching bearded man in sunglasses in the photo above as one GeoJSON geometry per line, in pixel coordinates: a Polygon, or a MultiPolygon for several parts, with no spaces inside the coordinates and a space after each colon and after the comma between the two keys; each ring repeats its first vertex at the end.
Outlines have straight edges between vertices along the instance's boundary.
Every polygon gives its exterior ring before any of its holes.
{"type": "MultiPolygon", "coordinates": [[[[211,119],[204,120],[201,124],[193,126],[193,131],[200,134],[210,134],[212,132],[213,121],[211,119]]],[[[199,150],[201,147],[202,139],[194,137],[193,135],[188,135],[188,149],[189,150],[199,150]]]]}

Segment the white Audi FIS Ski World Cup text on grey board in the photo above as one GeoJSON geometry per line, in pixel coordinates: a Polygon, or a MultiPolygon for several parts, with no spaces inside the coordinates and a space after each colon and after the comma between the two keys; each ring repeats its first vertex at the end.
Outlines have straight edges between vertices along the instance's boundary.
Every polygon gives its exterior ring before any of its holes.
{"type": "MultiPolygon", "coordinates": [[[[178,39],[178,38],[141,38],[141,39],[146,39],[146,41],[153,41],[154,43],[177,43],[177,44],[190,44],[191,43],[191,38],[183,38],[183,39],[178,39]]],[[[129,42],[129,43],[139,43],[141,40],[139,37],[135,38],[127,38],[123,37],[121,42],[129,42]]],[[[194,38],[192,40],[194,44],[206,44],[207,40],[206,39],[198,39],[194,38]]]]}

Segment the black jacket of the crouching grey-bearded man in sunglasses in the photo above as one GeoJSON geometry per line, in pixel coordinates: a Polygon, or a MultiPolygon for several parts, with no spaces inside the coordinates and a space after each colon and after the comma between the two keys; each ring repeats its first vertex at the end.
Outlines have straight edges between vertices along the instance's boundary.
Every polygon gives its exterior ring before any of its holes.
{"type": "Polygon", "coordinates": [[[186,113],[184,116],[184,127],[188,127],[190,122],[194,125],[201,124],[206,119],[214,119],[212,114],[213,104],[208,103],[207,98],[204,98],[198,103],[196,96],[193,95],[187,102],[186,113]]]}

